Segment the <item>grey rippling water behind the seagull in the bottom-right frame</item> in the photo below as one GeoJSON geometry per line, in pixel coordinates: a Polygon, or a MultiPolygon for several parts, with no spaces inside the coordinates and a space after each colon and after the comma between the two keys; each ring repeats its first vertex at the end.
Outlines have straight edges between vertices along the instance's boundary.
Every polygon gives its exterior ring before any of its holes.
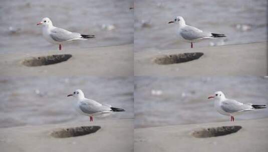
{"type": "MultiPolygon", "coordinates": [[[[213,100],[217,90],[227,98],[268,104],[268,78],[263,77],[135,77],[135,127],[228,121],[213,100]]],[[[268,109],[235,116],[236,120],[268,117],[268,109]]]]}

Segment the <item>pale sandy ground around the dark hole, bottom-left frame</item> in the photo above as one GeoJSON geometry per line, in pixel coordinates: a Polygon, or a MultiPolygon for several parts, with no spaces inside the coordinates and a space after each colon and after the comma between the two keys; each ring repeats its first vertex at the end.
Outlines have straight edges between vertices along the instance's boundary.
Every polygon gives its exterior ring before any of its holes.
{"type": "Polygon", "coordinates": [[[133,119],[84,121],[0,129],[1,151],[133,151],[133,119]],[[99,125],[91,134],[55,138],[58,128],[99,125]]]}

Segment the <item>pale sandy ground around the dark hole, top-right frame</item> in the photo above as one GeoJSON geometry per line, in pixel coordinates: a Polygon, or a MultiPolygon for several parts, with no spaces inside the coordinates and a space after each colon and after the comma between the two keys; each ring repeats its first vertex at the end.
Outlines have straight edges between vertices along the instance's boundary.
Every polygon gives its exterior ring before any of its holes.
{"type": "Polygon", "coordinates": [[[266,75],[266,42],[188,49],[157,50],[134,53],[134,75],[266,75]],[[156,57],[184,52],[203,52],[204,55],[183,63],[160,65],[156,57]]]}

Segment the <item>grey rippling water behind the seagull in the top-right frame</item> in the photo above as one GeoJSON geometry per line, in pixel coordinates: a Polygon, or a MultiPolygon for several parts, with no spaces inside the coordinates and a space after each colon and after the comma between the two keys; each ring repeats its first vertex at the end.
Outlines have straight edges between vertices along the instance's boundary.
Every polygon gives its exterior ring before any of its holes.
{"type": "Polygon", "coordinates": [[[267,0],[136,0],[135,51],[189,48],[189,43],[176,39],[175,24],[167,23],[179,15],[203,31],[227,35],[195,43],[196,47],[266,41],[266,8],[267,0]]]}

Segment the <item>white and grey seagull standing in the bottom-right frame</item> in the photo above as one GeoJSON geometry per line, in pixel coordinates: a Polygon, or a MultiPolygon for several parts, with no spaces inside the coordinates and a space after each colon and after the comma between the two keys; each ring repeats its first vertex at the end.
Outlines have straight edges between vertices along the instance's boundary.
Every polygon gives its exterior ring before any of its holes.
{"type": "Polygon", "coordinates": [[[266,108],[266,105],[264,104],[257,105],[252,103],[241,103],[234,99],[228,99],[222,91],[216,91],[213,96],[209,96],[208,98],[215,98],[214,107],[220,114],[230,115],[231,121],[234,121],[234,115],[260,108],[266,108]]]}

